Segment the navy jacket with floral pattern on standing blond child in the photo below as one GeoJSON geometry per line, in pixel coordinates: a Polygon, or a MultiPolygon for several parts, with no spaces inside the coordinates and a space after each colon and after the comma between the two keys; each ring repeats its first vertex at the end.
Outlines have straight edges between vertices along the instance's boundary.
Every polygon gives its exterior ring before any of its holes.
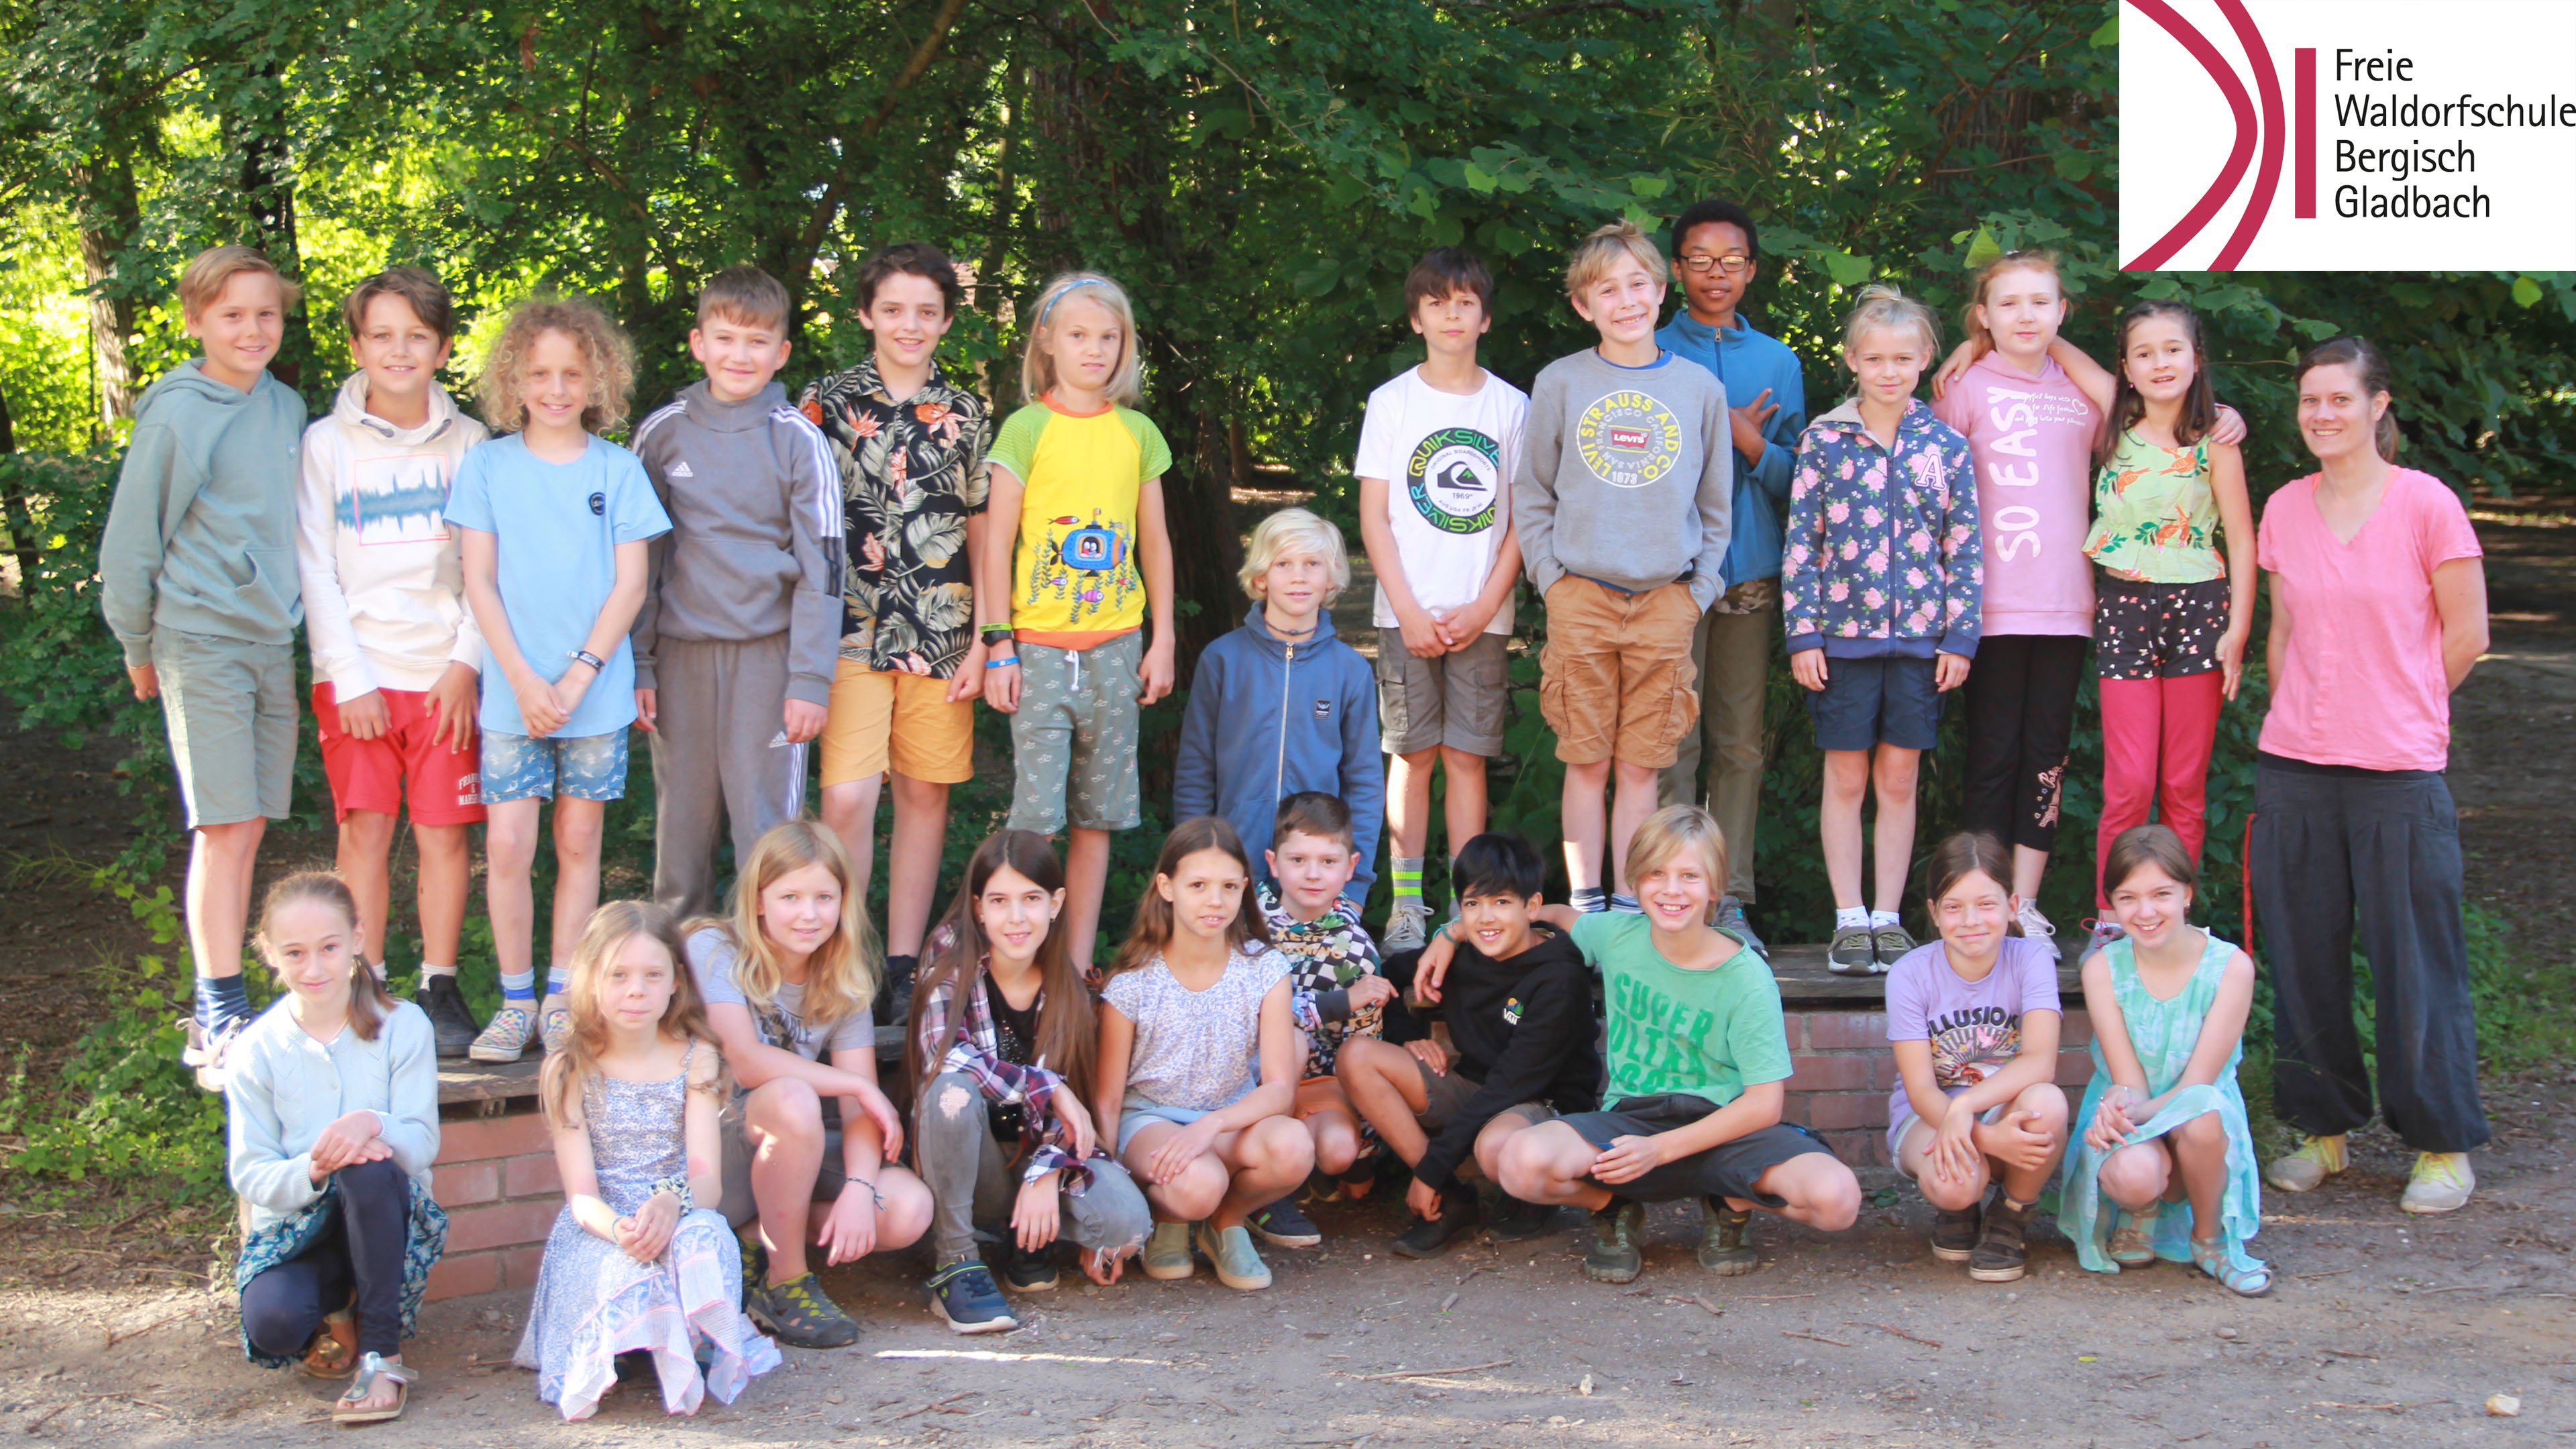
{"type": "Polygon", "coordinates": [[[1893,449],[1860,423],[1860,400],[1806,425],[1780,557],[1788,652],[1973,660],[1984,567],[1968,438],[1919,397],[1893,449]]]}

